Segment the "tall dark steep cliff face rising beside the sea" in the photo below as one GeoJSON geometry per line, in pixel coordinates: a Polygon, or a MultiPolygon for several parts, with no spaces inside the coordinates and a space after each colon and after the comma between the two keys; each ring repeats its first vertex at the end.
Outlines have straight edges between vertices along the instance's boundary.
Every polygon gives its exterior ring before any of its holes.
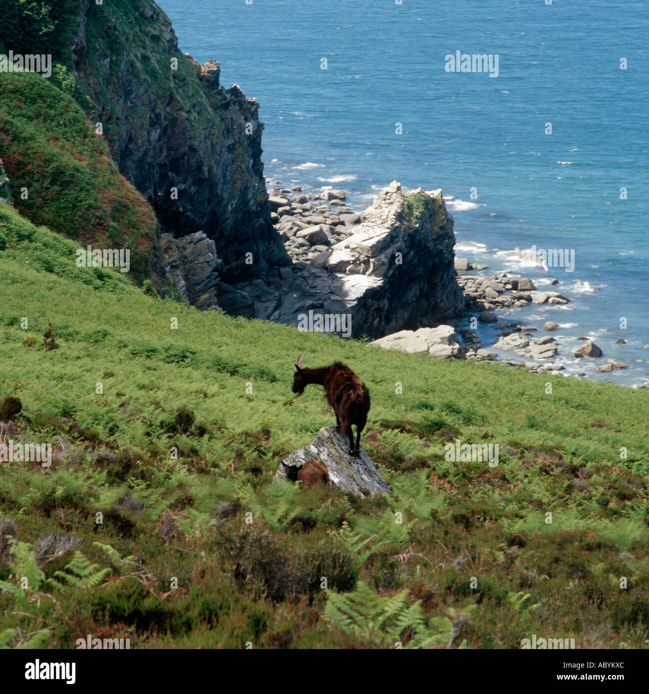
{"type": "Polygon", "coordinates": [[[199,65],[180,53],[152,0],[83,0],[77,24],[72,60],[93,122],[162,231],[205,232],[227,278],[288,263],[271,225],[257,101],[237,85],[224,89],[215,60],[199,65]]]}

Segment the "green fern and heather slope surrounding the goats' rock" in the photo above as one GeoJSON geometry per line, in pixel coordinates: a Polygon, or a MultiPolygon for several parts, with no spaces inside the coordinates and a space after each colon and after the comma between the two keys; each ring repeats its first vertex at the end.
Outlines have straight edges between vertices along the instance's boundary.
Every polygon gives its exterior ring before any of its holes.
{"type": "Polygon", "coordinates": [[[0,645],[646,646],[648,392],[198,312],[76,245],[0,208],[2,435],[55,446],[0,464],[0,645]],[[333,421],[292,398],[303,352],[368,384],[389,498],[271,482],[333,421]],[[447,462],[456,437],[500,464],[447,462]]]}

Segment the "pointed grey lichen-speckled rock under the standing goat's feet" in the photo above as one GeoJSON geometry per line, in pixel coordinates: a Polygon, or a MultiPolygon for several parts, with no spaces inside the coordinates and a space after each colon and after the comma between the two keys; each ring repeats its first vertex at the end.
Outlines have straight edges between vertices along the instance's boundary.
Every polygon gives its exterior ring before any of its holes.
{"type": "MultiPolygon", "coordinates": [[[[327,468],[332,484],[362,497],[390,493],[387,482],[378,473],[373,462],[360,447],[360,455],[349,455],[349,439],[337,432],[335,425],[321,428],[309,446],[298,448],[283,460],[288,466],[303,465],[316,459],[327,468]]],[[[280,464],[275,473],[276,479],[286,479],[284,465],[280,464]]]]}

